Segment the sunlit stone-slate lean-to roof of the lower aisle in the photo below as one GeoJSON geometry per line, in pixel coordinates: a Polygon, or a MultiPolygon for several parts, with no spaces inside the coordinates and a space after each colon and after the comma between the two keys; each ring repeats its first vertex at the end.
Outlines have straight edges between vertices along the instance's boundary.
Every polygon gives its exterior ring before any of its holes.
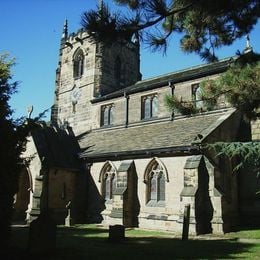
{"type": "Polygon", "coordinates": [[[104,158],[123,154],[145,155],[153,150],[188,150],[198,134],[202,133],[205,138],[233,112],[228,110],[128,128],[94,130],[79,140],[84,149],[80,157],[104,158]]]}

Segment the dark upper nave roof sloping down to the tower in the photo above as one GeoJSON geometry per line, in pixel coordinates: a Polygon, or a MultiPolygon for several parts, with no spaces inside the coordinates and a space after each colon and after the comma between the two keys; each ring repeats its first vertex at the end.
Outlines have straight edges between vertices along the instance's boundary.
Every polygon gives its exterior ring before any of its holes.
{"type": "Polygon", "coordinates": [[[133,94],[137,92],[142,92],[146,90],[151,90],[154,88],[167,86],[169,82],[172,84],[176,84],[179,82],[184,82],[188,80],[193,80],[197,78],[201,78],[204,76],[209,76],[217,73],[224,72],[228,69],[231,63],[237,59],[237,56],[226,58],[220,60],[218,62],[213,62],[210,64],[203,64],[199,66],[194,66],[189,69],[184,69],[172,73],[168,73],[165,75],[161,75],[159,77],[154,77],[147,80],[141,80],[136,82],[134,85],[128,86],[126,88],[117,90],[110,94],[98,97],[93,99],[91,102],[96,103],[104,100],[108,100],[111,98],[121,97],[125,94],[133,94]]]}

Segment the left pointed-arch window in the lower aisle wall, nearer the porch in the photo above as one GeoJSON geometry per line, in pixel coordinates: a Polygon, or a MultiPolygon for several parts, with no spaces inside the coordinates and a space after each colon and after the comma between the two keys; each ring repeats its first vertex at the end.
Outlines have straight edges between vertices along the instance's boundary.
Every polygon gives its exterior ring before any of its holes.
{"type": "Polygon", "coordinates": [[[110,162],[107,162],[102,168],[100,181],[102,197],[106,201],[111,200],[116,189],[116,170],[110,162]]]}

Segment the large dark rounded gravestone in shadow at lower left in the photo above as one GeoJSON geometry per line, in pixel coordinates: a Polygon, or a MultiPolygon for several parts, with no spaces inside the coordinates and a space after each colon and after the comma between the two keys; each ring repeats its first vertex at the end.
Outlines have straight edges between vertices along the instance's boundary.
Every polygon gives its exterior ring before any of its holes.
{"type": "Polygon", "coordinates": [[[31,253],[51,253],[56,247],[56,223],[47,212],[30,223],[29,251],[31,253]]]}

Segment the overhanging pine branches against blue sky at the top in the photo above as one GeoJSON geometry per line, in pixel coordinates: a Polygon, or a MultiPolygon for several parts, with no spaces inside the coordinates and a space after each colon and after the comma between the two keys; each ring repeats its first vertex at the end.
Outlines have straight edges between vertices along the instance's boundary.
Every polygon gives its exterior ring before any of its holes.
{"type": "Polygon", "coordinates": [[[215,49],[248,34],[260,14],[258,0],[114,0],[130,12],[110,12],[101,4],[86,11],[81,24],[96,40],[111,43],[138,35],[152,50],[166,52],[171,36],[181,34],[184,52],[215,61],[215,49]]]}

